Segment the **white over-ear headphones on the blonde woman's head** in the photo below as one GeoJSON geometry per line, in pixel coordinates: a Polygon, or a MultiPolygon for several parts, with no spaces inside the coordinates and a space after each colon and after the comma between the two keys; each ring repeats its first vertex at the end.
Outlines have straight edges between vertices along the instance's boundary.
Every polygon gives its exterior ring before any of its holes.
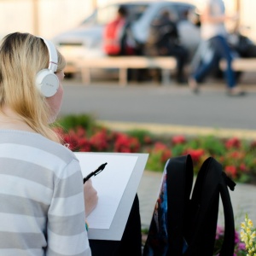
{"type": "Polygon", "coordinates": [[[43,96],[50,97],[54,96],[59,88],[59,79],[55,75],[58,66],[58,54],[53,43],[44,38],[41,39],[44,40],[49,52],[49,67],[37,73],[36,85],[43,96]]]}

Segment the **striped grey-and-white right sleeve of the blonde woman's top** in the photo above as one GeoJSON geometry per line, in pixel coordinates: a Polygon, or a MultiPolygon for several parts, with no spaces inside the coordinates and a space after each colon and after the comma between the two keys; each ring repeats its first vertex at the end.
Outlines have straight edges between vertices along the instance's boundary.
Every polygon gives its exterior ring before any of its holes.
{"type": "Polygon", "coordinates": [[[85,230],[84,186],[77,160],[56,177],[48,212],[47,256],[90,256],[85,230]]]}

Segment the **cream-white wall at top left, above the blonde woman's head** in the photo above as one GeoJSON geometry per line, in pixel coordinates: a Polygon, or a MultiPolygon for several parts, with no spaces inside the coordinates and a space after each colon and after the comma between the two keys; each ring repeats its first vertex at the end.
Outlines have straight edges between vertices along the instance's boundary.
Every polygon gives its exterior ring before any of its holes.
{"type": "Polygon", "coordinates": [[[52,38],[77,26],[92,9],[90,0],[0,0],[0,37],[19,31],[52,38]],[[33,16],[36,1],[38,31],[33,16]]]}

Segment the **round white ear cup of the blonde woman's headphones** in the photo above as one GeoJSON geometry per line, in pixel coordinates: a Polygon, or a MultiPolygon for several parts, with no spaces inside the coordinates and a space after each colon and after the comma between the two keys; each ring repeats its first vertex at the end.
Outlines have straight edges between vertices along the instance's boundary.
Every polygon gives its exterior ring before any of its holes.
{"type": "Polygon", "coordinates": [[[59,79],[49,69],[42,69],[37,73],[36,85],[43,96],[54,96],[59,88],[59,79]]]}

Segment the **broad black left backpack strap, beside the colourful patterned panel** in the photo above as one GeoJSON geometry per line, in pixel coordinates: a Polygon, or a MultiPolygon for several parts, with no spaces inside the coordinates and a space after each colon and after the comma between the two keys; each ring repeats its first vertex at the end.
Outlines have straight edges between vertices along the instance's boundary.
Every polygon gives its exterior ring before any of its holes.
{"type": "Polygon", "coordinates": [[[184,214],[188,210],[189,196],[193,184],[193,162],[191,156],[183,155],[169,160],[166,166],[167,188],[167,233],[166,255],[183,255],[184,214]]]}

